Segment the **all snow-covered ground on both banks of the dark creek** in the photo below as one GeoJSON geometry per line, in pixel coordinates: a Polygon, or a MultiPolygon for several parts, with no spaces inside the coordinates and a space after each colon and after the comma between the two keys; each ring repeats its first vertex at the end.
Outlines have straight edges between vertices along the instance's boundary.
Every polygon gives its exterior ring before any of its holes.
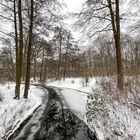
{"type": "MultiPolygon", "coordinates": [[[[139,85],[131,77],[121,93],[115,83],[113,78],[93,77],[87,84],[83,78],[67,78],[49,80],[47,85],[57,87],[64,104],[96,131],[99,140],[140,140],[139,85]]],[[[42,103],[44,91],[39,87],[31,86],[28,100],[22,98],[23,86],[21,99],[14,100],[14,87],[14,83],[0,85],[0,138],[12,133],[42,103]]]]}

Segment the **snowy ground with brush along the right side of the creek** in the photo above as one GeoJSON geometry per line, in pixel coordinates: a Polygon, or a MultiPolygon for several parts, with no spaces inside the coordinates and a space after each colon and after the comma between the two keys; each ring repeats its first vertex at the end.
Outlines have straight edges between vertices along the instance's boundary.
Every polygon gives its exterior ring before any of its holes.
{"type": "Polygon", "coordinates": [[[137,97],[139,93],[133,89],[133,93],[119,93],[115,82],[107,77],[91,78],[85,86],[82,78],[67,78],[47,85],[61,89],[67,106],[96,130],[99,140],[140,140],[140,110],[129,103],[134,102],[134,92],[137,97]]]}

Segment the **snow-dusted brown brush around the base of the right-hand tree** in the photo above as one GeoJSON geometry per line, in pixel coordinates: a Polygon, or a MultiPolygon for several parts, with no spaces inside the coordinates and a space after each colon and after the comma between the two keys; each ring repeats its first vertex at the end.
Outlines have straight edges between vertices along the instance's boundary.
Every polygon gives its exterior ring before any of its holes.
{"type": "Polygon", "coordinates": [[[98,83],[100,88],[88,96],[86,119],[99,139],[140,138],[140,89],[136,81],[128,82],[131,86],[125,81],[123,92],[116,89],[114,78],[103,78],[98,83]]]}

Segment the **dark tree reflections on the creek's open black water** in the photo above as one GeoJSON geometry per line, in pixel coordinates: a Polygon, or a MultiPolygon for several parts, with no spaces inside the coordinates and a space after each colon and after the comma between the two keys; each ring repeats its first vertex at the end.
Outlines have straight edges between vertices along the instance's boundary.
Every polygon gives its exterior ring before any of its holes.
{"type": "Polygon", "coordinates": [[[54,98],[47,104],[38,136],[38,140],[97,140],[96,133],[54,98]]]}

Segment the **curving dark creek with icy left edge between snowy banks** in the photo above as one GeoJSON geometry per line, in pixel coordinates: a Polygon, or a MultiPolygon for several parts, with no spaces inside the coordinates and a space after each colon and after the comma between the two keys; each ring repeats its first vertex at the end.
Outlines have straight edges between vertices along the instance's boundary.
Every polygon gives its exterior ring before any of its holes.
{"type": "Polygon", "coordinates": [[[96,133],[63,106],[55,89],[43,88],[43,103],[8,140],[98,140],[96,133]]]}

